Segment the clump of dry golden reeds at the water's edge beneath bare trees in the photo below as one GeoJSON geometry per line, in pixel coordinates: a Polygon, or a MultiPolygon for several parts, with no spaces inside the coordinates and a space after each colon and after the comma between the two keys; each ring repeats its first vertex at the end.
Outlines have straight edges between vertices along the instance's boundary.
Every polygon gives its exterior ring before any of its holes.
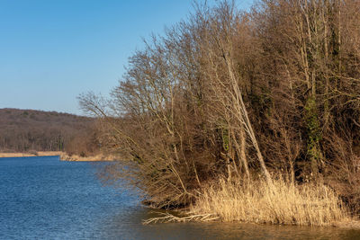
{"type": "Polygon", "coordinates": [[[346,218],[338,195],[323,184],[296,185],[276,180],[243,184],[220,180],[197,201],[196,214],[214,214],[222,221],[328,226],[346,218]]]}

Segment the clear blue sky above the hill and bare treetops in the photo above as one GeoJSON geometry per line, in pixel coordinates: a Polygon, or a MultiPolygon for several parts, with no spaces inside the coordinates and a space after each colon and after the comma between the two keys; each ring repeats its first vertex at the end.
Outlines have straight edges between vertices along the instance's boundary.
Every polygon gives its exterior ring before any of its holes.
{"type": "MultiPolygon", "coordinates": [[[[216,0],[208,1],[213,4],[216,0]]],[[[238,0],[248,8],[252,0],[238,0]]],[[[0,108],[81,114],[106,95],[141,38],[186,18],[192,0],[0,0],[0,108]]]]}

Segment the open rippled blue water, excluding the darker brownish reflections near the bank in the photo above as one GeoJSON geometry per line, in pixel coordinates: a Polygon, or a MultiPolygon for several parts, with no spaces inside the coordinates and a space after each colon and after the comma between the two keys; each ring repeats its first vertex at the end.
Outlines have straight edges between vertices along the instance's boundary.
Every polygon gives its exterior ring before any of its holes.
{"type": "Polygon", "coordinates": [[[102,187],[94,171],[89,163],[58,156],[0,158],[0,239],[101,236],[110,214],[136,200],[102,187]]]}

